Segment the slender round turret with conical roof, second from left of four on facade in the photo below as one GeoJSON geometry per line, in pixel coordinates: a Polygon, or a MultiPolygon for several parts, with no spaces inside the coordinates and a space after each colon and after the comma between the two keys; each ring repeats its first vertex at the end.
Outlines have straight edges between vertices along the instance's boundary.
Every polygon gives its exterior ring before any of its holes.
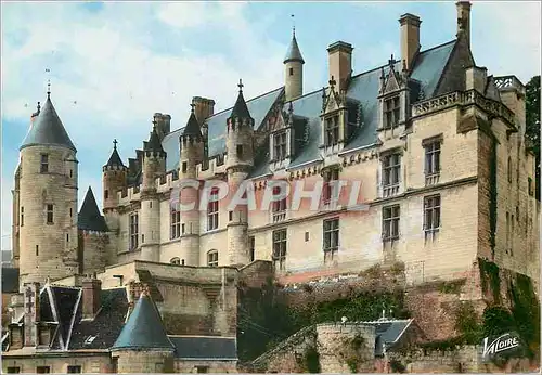
{"type": "Polygon", "coordinates": [[[159,261],[160,202],[156,193],[156,179],[166,172],[166,152],[153,120],[149,142],[143,144],[143,184],[141,189],[141,259],[159,261]]]}

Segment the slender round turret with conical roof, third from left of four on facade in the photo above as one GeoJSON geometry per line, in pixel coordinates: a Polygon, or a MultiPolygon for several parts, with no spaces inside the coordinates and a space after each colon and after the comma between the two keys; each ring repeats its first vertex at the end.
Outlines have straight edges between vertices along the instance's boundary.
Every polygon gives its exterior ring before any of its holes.
{"type": "MultiPolygon", "coordinates": [[[[192,104],[189,121],[179,137],[181,180],[197,181],[197,165],[202,163],[204,156],[204,140],[194,107],[195,105],[192,104]]],[[[179,257],[184,259],[186,266],[199,266],[199,188],[184,188],[178,198],[182,205],[194,205],[193,209],[179,212],[181,222],[179,257]]],[[[171,210],[179,210],[179,208],[173,204],[171,210]]]]}

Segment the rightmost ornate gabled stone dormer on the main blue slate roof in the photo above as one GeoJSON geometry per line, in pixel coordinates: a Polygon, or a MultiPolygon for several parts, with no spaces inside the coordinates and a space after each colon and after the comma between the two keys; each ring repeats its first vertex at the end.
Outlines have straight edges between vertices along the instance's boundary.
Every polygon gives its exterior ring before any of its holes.
{"type": "Polygon", "coordinates": [[[384,73],[384,67],[380,69],[378,131],[384,133],[384,139],[402,134],[409,118],[410,90],[406,67],[403,61],[403,69],[399,73],[396,70],[396,63],[391,55],[388,73],[384,73]]]}

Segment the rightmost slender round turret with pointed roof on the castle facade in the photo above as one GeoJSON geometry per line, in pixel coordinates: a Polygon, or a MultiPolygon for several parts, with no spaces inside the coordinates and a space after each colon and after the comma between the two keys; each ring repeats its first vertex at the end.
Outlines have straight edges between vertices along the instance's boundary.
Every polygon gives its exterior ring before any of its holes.
{"type": "MultiPolygon", "coordinates": [[[[232,114],[227,120],[225,147],[228,153],[225,170],[228,173],[229,197],[237,194],[254,166],[254,119],[250,117],[245,99],[243,82],[240,79],[238,95],[232,114]]],[[[230,207],[232,208],[232,207],[230,207]]],[[[236,205],[228,215],[228,263],[241,266],[248,263],[248,209],[236,205]]]]}

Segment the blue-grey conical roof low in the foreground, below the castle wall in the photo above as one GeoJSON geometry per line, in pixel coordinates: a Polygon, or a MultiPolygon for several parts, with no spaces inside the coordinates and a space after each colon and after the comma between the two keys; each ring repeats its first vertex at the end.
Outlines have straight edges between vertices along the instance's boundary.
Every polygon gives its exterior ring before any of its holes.
{"type": "Polygon", "coordinates": [[[111,349],[175,350],[162,323],[158,309],[146,292],[141,294],[128,322],[122,327],[120,335],[111,349]]]}

